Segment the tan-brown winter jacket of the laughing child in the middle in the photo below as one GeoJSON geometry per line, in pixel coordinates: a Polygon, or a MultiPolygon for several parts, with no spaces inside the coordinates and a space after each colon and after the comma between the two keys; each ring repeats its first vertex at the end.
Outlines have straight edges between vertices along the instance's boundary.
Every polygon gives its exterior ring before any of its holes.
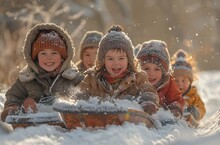
{"type": "Polygon", "coordinates": [[[102,98],[114,97],[116,99],[134,96],[135,98],[140,97],[139,103],[152,101],[157,106],[159,105],[157,92],[149,83],[148,76],[143,71],[138,73],[130,72],[120,82],[118,88],[113,90],[111,85],[106,84],[101,80],[100,73],[90,70],[81,82],[80,88],[85,94],[84,99],[89,96],[99,96],[102,98]]]}

